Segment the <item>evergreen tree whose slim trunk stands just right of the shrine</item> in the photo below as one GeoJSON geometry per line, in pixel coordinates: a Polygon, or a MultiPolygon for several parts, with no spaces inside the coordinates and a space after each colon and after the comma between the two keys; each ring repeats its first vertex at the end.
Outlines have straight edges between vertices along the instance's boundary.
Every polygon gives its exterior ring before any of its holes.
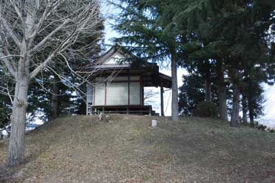
{"type": "Polygon", "coordinates": [[[179,45],[184,36],[177,32],[173,21],[173,1],[132,1],[121,0],[117,6],[122,13],[116,20],[115,29],[122,34],[117,42],[124,42],[144,60],[164,65],[170,59],[172,74],[172,119],[178,119],[177,66],[179,45]]]}

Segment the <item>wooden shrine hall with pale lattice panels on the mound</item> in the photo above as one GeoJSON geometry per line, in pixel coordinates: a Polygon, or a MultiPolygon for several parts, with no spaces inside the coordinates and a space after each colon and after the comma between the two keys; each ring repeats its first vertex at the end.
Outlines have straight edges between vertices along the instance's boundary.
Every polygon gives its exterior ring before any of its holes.
{"type": "Polygon", "coordinates": [[[115,45],[88,66],[95,74],[87,83],[87,115],[102,113],[148,114],[144,87],[160,87],[161,115],[164,116],[164,88],[171,88],[171,77],[159,73],[155,63],[144,62],[115,45]]]}

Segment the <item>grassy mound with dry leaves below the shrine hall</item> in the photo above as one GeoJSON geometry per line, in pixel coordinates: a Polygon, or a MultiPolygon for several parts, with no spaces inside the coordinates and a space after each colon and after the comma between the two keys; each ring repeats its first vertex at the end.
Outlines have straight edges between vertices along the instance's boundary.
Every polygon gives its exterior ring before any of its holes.
{"type": "Polygon", "coordinates": [[[274,182],[274,144],[275,134],[212,119],[62,117],[28,133],[25,164],[10,175],[1,165],[0,182],[274,182]]]}

